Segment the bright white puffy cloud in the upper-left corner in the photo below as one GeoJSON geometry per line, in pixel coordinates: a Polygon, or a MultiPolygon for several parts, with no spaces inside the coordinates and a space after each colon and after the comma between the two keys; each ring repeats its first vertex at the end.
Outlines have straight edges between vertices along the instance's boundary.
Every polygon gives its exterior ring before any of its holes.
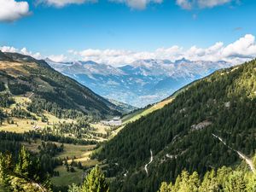
{"type": "Polygon", "coordinates": [[[29,5],[26,1],[0,0],[0,21],[14,21],[29,15],[29,5]]]}

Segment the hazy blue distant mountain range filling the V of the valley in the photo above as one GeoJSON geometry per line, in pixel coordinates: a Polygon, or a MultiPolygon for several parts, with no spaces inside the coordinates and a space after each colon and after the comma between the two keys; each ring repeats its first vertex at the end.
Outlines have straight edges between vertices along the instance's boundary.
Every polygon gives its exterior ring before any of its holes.
{"type": "Polygon", "coordinates": [[[140,60],[122,67],[73,61],[49,65],[84,84],[100,96],[142,108],[160,102],[185,84],[220,69],[231,67],[226,61],[140,60]]]}

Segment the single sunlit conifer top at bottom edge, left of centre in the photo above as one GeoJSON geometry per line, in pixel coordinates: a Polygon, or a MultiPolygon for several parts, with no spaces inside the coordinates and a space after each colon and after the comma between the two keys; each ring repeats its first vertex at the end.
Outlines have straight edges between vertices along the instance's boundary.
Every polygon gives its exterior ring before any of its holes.
{"type": "Polygon", "coordinates": [[[108,183],[99,166],[92,169],[85,178],[81,192],[109,192],[108,183]]]}

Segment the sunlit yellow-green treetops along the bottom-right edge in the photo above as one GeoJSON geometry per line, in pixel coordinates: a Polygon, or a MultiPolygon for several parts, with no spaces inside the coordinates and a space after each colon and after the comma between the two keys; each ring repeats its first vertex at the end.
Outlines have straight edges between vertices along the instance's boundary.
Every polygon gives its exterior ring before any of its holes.
{"type": "Polygon", "coordinates": [[[207,172],[202,179],[197,172],[189,175],[183,171],[175,183],[161,183],[158,192],[254,192],[256,189],[256,173],[223,166],[217,172],[207,172]]]}

